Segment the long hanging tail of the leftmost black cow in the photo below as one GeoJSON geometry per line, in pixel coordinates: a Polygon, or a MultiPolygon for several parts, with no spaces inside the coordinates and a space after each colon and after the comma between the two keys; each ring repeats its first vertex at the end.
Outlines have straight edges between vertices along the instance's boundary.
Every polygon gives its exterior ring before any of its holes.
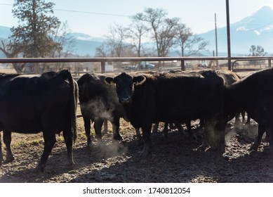
{"type": "Polygon", "coordinates": [[[71,126],[72,126],[72,132],[73,132],[73,141],[76,142],[77,138],[77,132],[76,132],[76,106],[78,102],[78,85],[74,81],[71,73],[68,70],[64,70],[67,80],[70,85],[70,91],[69,91],[69,111],[71,114],[71,126]]]}

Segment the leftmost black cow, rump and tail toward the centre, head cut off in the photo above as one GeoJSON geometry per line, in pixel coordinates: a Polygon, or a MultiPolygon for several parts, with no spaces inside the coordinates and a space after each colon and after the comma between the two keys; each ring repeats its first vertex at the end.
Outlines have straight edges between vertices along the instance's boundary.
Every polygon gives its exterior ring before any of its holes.
{"type": "Polygon", "coordinates": [[[4,133],[6,162],[14,160],[11,132],[43,132],[44,152],[36,167],[43,171],[56,141],[55,134],[62,132],[67,146],[67,165],[72,167],[77,90],[76,82],[68,70],[36,76],[0,74],[0,130],[4,133]]]}

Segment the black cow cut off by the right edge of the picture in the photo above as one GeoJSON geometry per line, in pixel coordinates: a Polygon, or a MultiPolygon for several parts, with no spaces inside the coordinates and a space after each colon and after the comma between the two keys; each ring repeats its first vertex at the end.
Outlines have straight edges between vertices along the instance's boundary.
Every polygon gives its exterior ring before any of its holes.
{"type": "Polygon", "coordinates": [[[232,119],[242,108],[258,122],[258,137],[251,149],[260,145],[262,134],[269,139],[269,151],[273,153],[273,69],[262,70],[225,88],[225,116],[232,119]]]}

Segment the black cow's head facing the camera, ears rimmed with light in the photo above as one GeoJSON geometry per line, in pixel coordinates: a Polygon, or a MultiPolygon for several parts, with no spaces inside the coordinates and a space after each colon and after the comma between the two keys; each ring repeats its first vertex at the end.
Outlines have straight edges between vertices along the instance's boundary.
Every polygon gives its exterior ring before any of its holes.
{"type": "Polygon", "coordinates": [[[133,85],[139,85],[145,82],[146,78],[142,75],[132,77],[131,75],[122,72],[116,77],[106,77],[105,82],[108,84],[116,84],[116,94],[119,97],[121,104],[129,104],[132,100],[133,85]]]}

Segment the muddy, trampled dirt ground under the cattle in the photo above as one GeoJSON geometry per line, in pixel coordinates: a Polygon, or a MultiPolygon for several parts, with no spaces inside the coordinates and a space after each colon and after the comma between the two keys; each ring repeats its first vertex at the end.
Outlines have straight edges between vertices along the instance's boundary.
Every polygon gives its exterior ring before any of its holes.
{"type": "MultiPolygon", "coordinates": [[[[66,167],[62,136],[57,137],[45,172],[36,172],[34,168],[44,147],[42,134],[13,133],[15,160],[0,167],[0,182],[273,182],[269,144],[263,142],[258,151],[248,151],[257,134],[255,122],[250,126],[241,123],[237,129],[234,122],[227,125],[225,157],[213,151],[197,151],[200,131],[197,122],[192,122],[197,138],[177,129],[170,130],[168,139],[160,131],[152,134],[152,154],[147,159],[140,158],[143,144],[128,122],[121,120],[122,141],[112,142],[109,124],[102,138],[104,145],[99,147],[93,138],[91,151],[86,147],[82,117],[77,122],[79,137],[74,146],[73,170],[66,167]]],[[[3,149],[6,155],[6,148],[3,149]]]]}

